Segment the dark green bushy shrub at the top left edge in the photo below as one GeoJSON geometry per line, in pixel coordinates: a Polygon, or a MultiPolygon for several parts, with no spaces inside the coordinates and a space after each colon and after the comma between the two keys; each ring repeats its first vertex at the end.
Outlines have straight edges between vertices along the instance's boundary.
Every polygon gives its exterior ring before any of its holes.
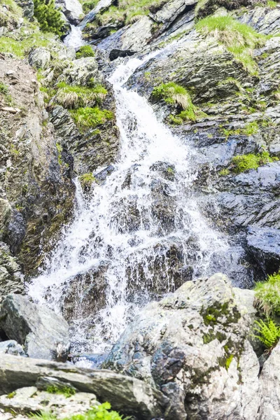
{"type": "Polygon", "coordinates": [[[55,8],[55,0],[34,0],[34,16],[42,31],[62,35],[64,21],[60,11],[55,8]]]}

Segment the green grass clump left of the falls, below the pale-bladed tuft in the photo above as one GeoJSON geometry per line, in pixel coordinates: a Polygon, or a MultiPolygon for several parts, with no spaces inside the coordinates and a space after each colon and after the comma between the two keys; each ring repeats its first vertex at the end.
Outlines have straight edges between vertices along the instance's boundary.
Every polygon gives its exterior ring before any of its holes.
{"type": "Polygon", "coordinates": [[[73,120],[81,131],[97,127],[113,119],[113,113],[107,109],[85,107],[70,111],[73,120]]]}

